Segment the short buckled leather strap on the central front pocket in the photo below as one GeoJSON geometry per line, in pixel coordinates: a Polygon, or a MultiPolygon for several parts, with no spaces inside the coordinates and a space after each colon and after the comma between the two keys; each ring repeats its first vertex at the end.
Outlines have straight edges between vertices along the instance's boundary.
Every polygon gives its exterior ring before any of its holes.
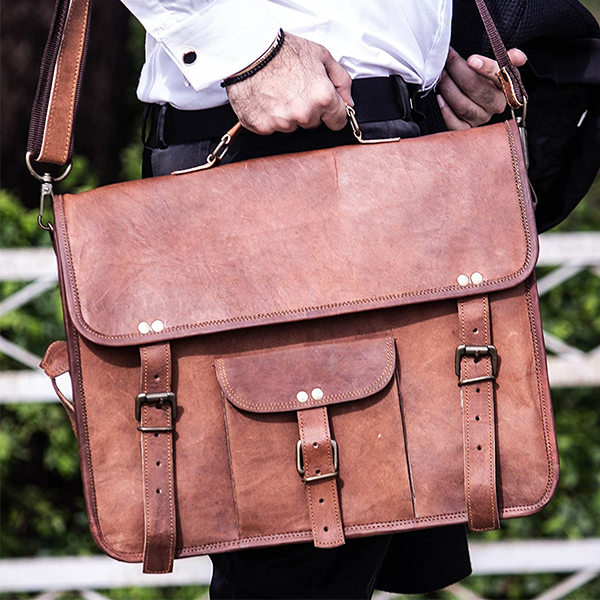
{"type": "Polygon", "coordinates": [[[327,407],[298,411],[308,510],[317,548],[345,543],[327,407]]]}

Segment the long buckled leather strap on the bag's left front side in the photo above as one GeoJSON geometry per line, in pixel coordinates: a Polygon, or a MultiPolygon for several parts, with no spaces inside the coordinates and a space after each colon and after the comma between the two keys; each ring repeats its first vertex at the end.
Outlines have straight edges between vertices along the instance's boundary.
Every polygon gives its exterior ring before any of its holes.
{"type": "Polygon", "coordinates": [[[164,394],[171,391],[171,347],[168,342],[141,346],[140,356],[141,396],[148,395],[148,401],[139,404],[140,427],[138,428],[145,430],[141,433],[144,481],[144,573],[170,573],[173,570],[176,534],[173,447],[176,407],[168,401],[156,401],[150,394],[164,394]],[[154,431],[155,429],[159,431],[154,431]]]}

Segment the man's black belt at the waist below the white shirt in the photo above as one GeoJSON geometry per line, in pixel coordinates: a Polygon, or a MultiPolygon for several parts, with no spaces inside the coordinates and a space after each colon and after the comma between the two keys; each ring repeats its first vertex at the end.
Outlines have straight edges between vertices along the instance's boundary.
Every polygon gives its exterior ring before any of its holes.
{"type": "MultiPolygon", "coordinates": [[[[439,131],[442,117],[435,93],[422,94],[418,88],[405,83],[399,75],[353,80],[352,99],[358,122],[414,120],[423,133],[439,131]],[[432,120],[435,120],[435,128],[432,120]]],[[[229,104],[193,111],[179,110],[168,104],[147,104],[144,124],[146,119],[150,124],[147,144],[151,147],[220,139],[238,120],[229,104]]]]}

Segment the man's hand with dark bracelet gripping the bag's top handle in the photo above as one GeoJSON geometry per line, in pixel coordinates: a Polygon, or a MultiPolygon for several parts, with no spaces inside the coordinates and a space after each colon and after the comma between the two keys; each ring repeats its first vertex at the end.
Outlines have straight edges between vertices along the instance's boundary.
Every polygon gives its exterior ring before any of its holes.
{"type": "Polygon", "coordinates": [[[346,125],[350,96],[348,72],[329,51],[285,34],[273,60],[252,77],[227,87],[231,107],[242,125],[261,135],[312,129],[321,122],[338,131],[346,125]]]}

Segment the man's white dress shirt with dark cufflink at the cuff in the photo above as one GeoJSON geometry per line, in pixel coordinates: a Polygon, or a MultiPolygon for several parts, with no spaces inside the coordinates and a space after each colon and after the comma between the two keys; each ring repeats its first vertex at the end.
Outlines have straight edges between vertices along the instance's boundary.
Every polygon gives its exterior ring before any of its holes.
{"type": "Polygon", "coordinates": [[[448,54],[452,0],[122,0],[146,28],[143,102],[220,106],[220,82],[279,28],[325,46],[352,78],[401,75],[429,89],[448,54]],[[184,55],[195,56],[191,64],[184,55]]]}

